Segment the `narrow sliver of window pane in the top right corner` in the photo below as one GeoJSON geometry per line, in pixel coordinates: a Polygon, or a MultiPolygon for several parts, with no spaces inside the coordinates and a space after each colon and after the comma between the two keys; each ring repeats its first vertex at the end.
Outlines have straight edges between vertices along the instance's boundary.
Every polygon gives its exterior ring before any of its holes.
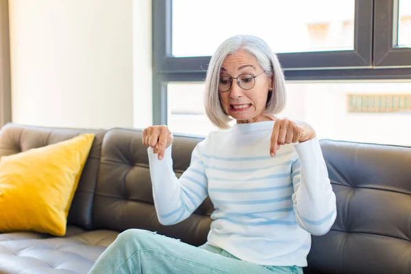
{"type": "Polygon", "coordinates": [[[411,47],[411,1],[399,0],[398,45],[411,47]]]}

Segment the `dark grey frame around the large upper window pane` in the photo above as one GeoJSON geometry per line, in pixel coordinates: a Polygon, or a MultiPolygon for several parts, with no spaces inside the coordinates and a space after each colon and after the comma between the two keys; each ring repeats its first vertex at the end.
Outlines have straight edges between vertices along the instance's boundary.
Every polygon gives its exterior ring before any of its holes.
{"type": "MultiPolygon", "coordinates": [[[[371,68],[373,37],[373,0],[356,0],[354,16],[354,49],[278,53],[282,68],[314,70],[371,68]]],[[[158,73],[201,73],[211,56],[175,57],[172,54],[173,0],[153,0],[153,53],[158,73]]]]}

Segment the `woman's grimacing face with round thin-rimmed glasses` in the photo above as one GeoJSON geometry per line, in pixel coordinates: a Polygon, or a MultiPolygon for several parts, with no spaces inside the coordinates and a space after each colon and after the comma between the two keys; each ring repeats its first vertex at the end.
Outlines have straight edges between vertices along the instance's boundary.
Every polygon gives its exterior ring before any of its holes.
{"type": "Polygon", "coordinates": [[[223,62],[220,72],[219,94],[223,110],[237,123],[253,123],[260,121],[260,115],[266,108],[267,97],[269,90],[272,88],[272,80],[267,77],[264,70],[258,64],[256,58],[245,50],[239,50],[234,54],[227,55],[223,62]],[[238,77],[238,79],[231,79],[232,84],[228,91],[229,82],[226,77],[238,77]],[[249,88],[254,82],[253,88],[245,90],[238,86],[237,81],[240,81],[242,86],[249,88]]]}

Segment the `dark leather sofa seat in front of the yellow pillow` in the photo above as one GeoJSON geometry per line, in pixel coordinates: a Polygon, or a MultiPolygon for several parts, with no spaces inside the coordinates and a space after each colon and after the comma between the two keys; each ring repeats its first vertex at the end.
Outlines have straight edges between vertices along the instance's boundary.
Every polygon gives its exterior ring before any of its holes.
{"type": "Polygon", "coordinates": [[[78,227],[69,227],[65,237],[0,234],[0,274],[86,274],[118,234],[78,227]]]}

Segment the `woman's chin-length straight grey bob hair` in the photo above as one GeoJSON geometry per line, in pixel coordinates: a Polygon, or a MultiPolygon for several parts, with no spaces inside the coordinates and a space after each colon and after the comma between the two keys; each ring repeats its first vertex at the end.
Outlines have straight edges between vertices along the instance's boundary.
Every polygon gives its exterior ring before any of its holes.
{"type": "Polygon", "coordinates": [[[264,40],[255,36],[238,35],[225,40],[216,49],[208,65],[206,76],[206,90],[204,92],[204,107],[206,114],[214,125],[221,129],[229,128],[231,118],[224,112],[219,96],[219,79],[221,66],[227,55],[244,49],[257,59],[266,71],[268,77],[273,77],[273,91],[267,99],[264,114],[272,115],[281,112],[286,104],[286,87],[282,68],[277,55],[273,53],[264,40]]]}

